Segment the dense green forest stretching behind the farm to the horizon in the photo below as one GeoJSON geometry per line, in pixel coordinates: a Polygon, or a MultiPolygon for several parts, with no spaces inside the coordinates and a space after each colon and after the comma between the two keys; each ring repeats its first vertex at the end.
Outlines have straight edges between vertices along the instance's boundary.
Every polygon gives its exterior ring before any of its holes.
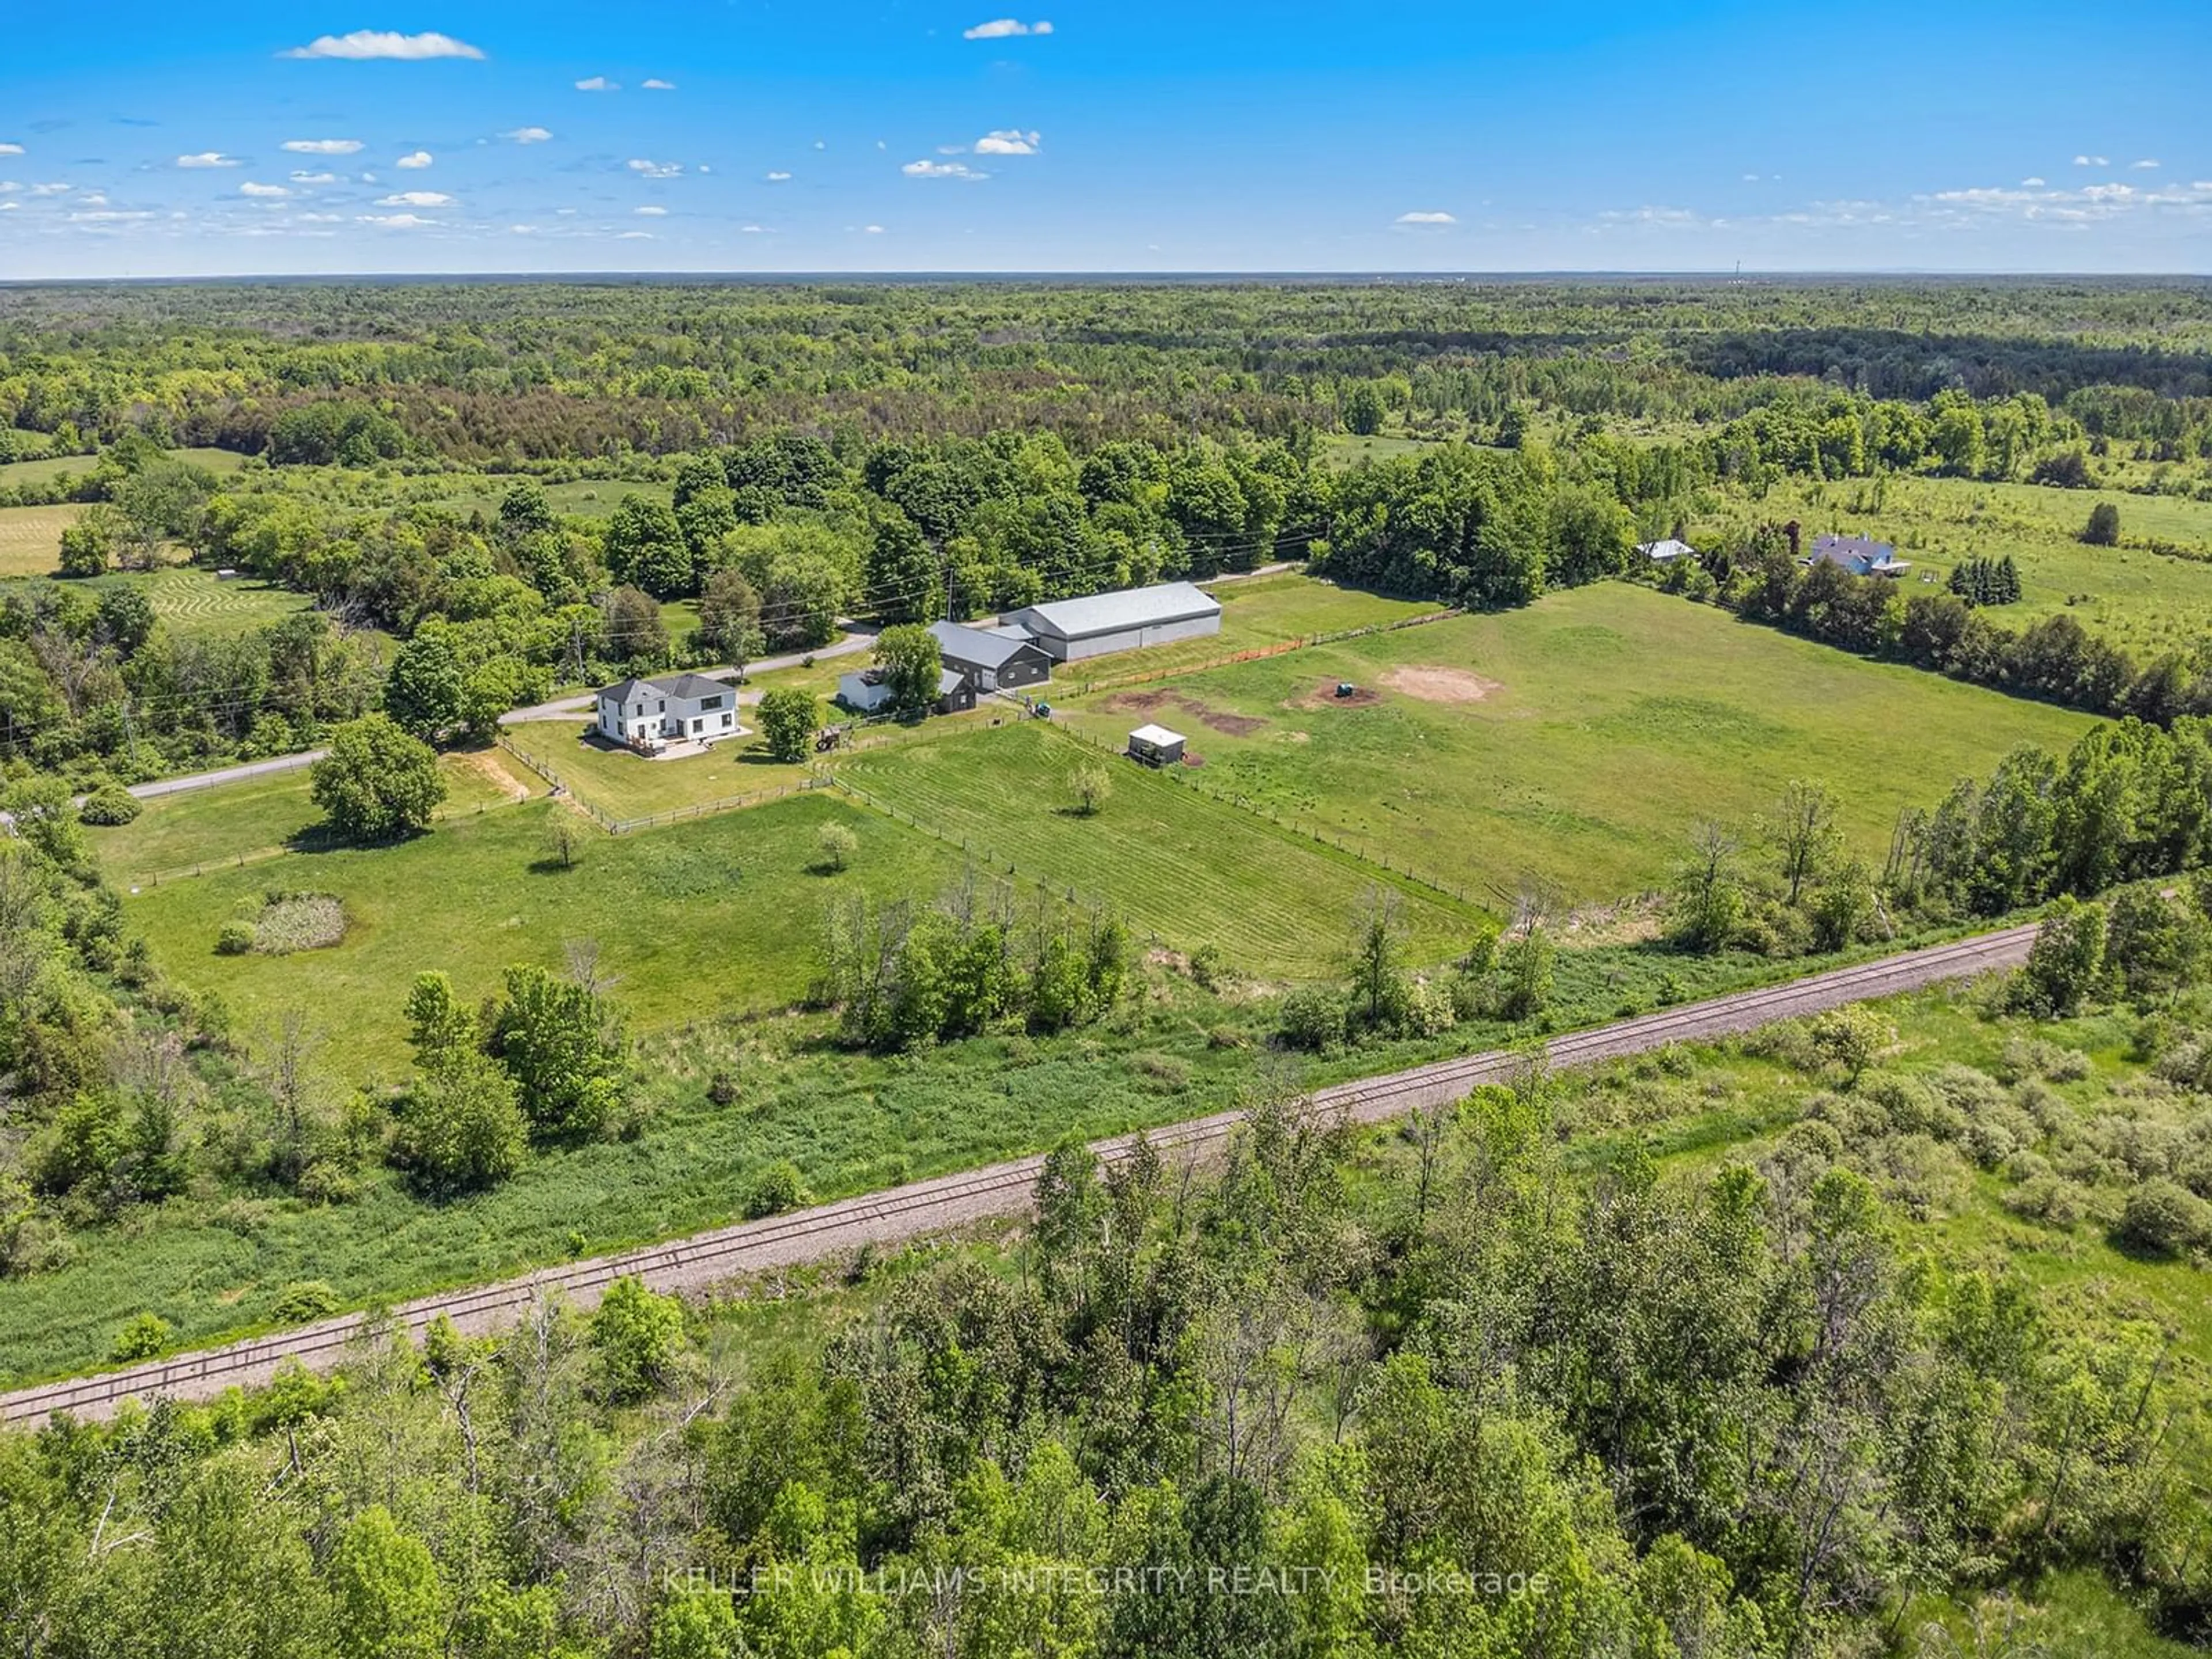
{"type": "MultiPolygon", "coordinates": [[[[841,615],[1283,557],[1515,606],[1776,478],[2203,493],[2208,310],[2130,283],[9,290],[0,440],[95,453],[0,482],[86,504],[62,571],[181,551],[323,622],[184,639],[124,593],[11,584],[0,743],[150,776],[307,745],[387,679],[422,737],[482,734],[553,684],[803,650],[841,615]],[[1345,469],[1385,425],[1436,442],[1345,469]],[[495,513],[409,504],[484,467],[522,473],[495,513]],[[555,511],[575,478],[613,513],[555,511]],[[670,635],[666,599],[701,626],[670,635]]],[[[1710,549],[1705,595],[2079,708],[2212,708],[2203,653],[1798,582],[1783,529],[1710,549]]]]}

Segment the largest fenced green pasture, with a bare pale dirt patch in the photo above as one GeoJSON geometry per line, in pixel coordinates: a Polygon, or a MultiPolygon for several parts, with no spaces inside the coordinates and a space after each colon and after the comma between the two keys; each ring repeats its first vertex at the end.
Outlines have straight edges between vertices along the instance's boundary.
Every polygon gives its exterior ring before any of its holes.
{"type": "Polygon", "coordinates": [[[1747,827],[1794,776],[1836,790],[1878,865],[1900,807],[2090,726],[1621,582],[1057,712],[1104,743],[1186,732],[1203,787],[1493,902],[1526,874],[1575,900],[1659,887],[1701,818],[1747,827]]]}

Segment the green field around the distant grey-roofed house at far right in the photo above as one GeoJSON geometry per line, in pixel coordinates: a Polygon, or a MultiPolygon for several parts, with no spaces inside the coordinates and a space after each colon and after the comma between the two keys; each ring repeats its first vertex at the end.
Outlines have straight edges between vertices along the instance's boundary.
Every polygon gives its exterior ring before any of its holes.
{"type": "Polygon", "coordinates": [[[1907,593],[1940,593],[1964,560],[2011,555],[2022,595],[1989,613],[2000,626],[2066,613],[2143,659],[2212,635],[2212,502],[1966,478],[1785,480],[1690,529],[1705,544],[1792,518],[1807,544],[1818,531],[1893,542],[1916,566],[1902,577],[1907,593]],[[2119,509],[2119,546],[2081,542],[2097,502],[2119,509]],[[2152,542],[2179,553],[2157,553],[2152,542]]]}

